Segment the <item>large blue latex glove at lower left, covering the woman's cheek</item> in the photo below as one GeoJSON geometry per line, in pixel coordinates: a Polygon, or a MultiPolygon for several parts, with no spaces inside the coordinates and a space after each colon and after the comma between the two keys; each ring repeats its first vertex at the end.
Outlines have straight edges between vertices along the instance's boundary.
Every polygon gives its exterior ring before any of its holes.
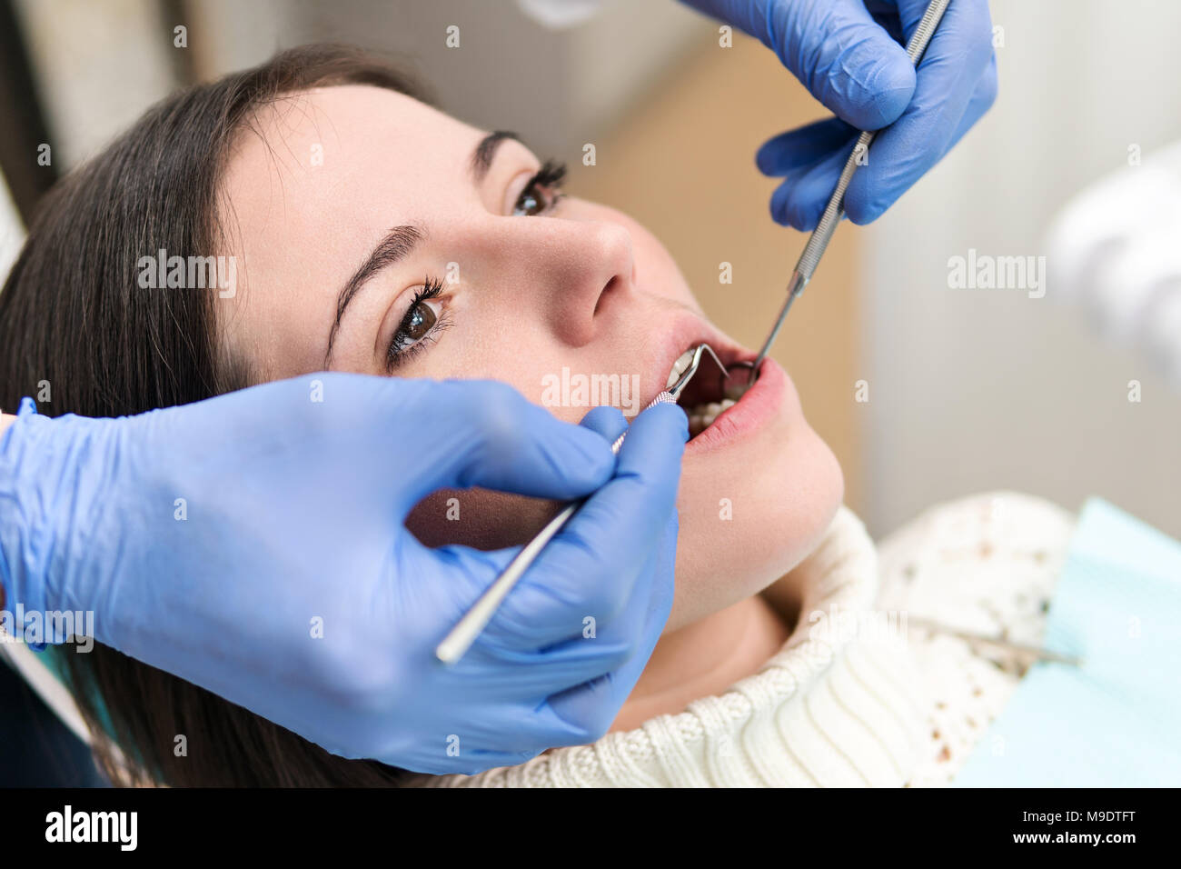
{"type": "Polygon", "coordinates": [[[672,605],[687,422],[641,414],[616,462],[625,427],[498,383],[344,374],[119,420],[26,400],[0,441],[7,609],[91,610],[98,641],[345,757],[472,773],[590,742],[672,605]],[[436,644],[513,551],[428,549],[403,521],[469,486],[599,491],[448,668],[436,644]]]}

